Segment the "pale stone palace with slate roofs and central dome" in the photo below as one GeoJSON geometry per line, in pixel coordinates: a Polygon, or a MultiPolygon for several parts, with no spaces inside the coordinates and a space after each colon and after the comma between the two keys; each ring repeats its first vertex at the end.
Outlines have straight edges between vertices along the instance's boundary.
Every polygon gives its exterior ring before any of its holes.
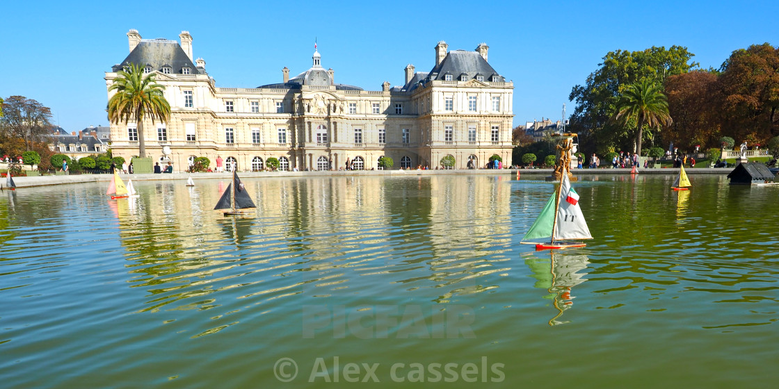
{"type": "MultiPolygon", "coordinates": [[[[393,159],[393,169],[435,168],[446,156],[456,169],[483,167],[493,155],[511,163],[513,82],[488,64],[486,44],[448,51],[439,42],[429,72],[407,65],[404,86],[384,82],[381,90],[335,82],[318,51],[305,72],[290,77],[282,69],[281,82],[221,88],[206,61],[193,59],[189,32],[180,42],[142,39],[136,30],[127,37],[129,55],[106,72],[106,87],[131,63],[157,74],[171,118],[144,121],[146,155],[170,160],[176,170],[197,156],[211,166],[220,156],[241,171],[263,170],[270,157],[280,170],[337,170],[347,160],[370,170],[382,156],[393,159]]],[[[111,124],[114,156],[137,156],[138,142],[136,123],[111,124]]]]}

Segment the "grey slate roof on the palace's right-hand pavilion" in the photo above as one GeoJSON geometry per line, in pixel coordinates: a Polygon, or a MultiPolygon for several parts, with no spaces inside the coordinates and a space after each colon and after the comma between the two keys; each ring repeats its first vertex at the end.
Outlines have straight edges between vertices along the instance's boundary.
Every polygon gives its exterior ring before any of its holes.
{"type": "MultiPolygon", "coordinates": [[[[453,81],[459,81],[459,75],[462,74],[467,75],[467,79],[476,79],[476,75],[483,75],[485,81],[492,81],[492,75],[499,75],[478,52],[453,50],[446,53],[443,61],[438,66],[433,67],[430,72],[414,73],[414,77],[403,86],[402,90],[414,90],[420,85],[420,82],[424,85],[430,80],[444,80],[447,74],[452,75],[453,81]],[[456,80],[455,75],[457,75],[456,80]]],[[[506,79],[499,76],[498,81],[505,82],[506,79]]]]}

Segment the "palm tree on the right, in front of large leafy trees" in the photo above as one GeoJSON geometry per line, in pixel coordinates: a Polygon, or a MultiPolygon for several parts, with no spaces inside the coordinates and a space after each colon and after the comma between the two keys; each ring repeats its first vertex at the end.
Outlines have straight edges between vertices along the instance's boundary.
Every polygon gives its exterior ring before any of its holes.
{"type": "Polygon", "coordinates": [[[641,137],[643,136],[644,124],[650,127],[661,124],[671,125],[668,100],[665,99],[661,87],[647,79],[627,86],[617,102],[617,110],[615,120],[636,120],[638,127],[636,152],[638,155],[641,155],[641,137]]]}

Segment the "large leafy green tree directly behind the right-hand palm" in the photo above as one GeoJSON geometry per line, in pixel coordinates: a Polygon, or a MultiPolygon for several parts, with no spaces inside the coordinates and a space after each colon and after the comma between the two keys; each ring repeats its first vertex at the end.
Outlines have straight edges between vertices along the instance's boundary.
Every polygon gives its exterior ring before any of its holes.
{"type": "Polygon", "coordinates": [[[583,85],[574,86],[569,96],[569,100],[576,101],[570,130],[580,134],[581,149],[605,153],[633,144],[629,134],[633,133],[634,124],[626,126],[611,120],[623,90],[641,79],[664,85],[669,76],[689,72],[699,65],[690,61],[693,56],[680,46],[608,52],[600,67],[587,76],[583,85]]]}

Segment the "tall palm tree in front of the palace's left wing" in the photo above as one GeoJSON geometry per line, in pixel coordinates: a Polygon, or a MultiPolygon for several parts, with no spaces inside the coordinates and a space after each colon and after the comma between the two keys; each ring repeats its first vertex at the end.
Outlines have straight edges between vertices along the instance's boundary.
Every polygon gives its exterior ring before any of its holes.
{"type": "Polygon", "coordinates": [[[108,120],[127,124],[135,120],[138,124],[138,147],[141,158],[146,157],[146,142],[143,139],[143,119],[150,117],[166,122],[171,118],[171,104],[163,96],[164,86],[154,80],[154,73],[143,74],[143,66],[130,64],[129,68],[117,72],[117,78],[108,88],[115,90],[108,100],[108,120]]]}

